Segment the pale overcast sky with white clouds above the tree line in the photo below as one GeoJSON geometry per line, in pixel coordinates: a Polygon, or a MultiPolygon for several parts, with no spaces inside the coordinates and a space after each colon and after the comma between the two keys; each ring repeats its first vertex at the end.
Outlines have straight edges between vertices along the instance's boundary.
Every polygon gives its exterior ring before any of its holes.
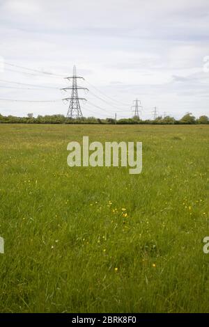
{"type": "Polygon", "coordinates": [[[0,101],[1,114],[68,110],[65,79],[4,61],[63,76],[76,65],[91,91],[79,93],[86,116],[129,117],[136,98],[143,118],[154,106],[176,118],[209,115],[208,0],[0,0],[0,27],[0,79],[33,84],[0,81],[0,99],[58,100],[0,101]]]}

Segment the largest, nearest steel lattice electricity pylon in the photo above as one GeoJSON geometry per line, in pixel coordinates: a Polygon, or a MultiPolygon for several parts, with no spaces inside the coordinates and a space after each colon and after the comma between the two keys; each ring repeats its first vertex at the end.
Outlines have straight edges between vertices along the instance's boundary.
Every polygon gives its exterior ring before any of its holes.
{"type": "Polygon", "coordinates": [[[83,115],[82,115],[82,109],[81,109],[79,100],[84,100],[84,101],[87,101],[87,100],[84,97],[79,97],[78,96],[78,90],[88,90],[88,88],[82,88],[81,86],[77,86],[77,79],[84,79],[84,77],[77,76],[76,67],[73,66],[72,77],[65,77],[65,79],[68,79],[68,81],[70,81],[70,79],[72,79],[72,86],[70,86],[69,88],[62,88],[61,89],[61,90],[64,90],[66,92],[68,90],[72,90],[71,91],[71,97],[65,97],[65,99],[63,99],[63,101],[70,101],[67,117],[70,118],[70,119],[72,119],[72,118],[82,118],[83,115]]]}

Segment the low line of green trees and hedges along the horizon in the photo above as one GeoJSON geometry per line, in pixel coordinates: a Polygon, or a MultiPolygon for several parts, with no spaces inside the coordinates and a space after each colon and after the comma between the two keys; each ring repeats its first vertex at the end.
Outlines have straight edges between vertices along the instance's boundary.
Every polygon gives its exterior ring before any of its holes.
{"type": "Polygon", "coordinates": [[[183,118],[176,120],[169,115],[166,117],[159,116],[155,120],[141,120],[137,117],[123,118],[114,120],[114,118],[95,118],[95,117],[82,117],[82,118],[66,118],[64,115],[38,115],[33,117],[33,114],[29,113],[27,117],[16,117],[14,115],[1,115],[0,123],[11,124],[118,124],[118,125],[137,125],[137,124],[154,124],[154,125],[190,125],[190,124],[209,124],[209,118],[207,115],[201,115],[199,118],[195,118],[192,113],[186,113],[183,118]]]}

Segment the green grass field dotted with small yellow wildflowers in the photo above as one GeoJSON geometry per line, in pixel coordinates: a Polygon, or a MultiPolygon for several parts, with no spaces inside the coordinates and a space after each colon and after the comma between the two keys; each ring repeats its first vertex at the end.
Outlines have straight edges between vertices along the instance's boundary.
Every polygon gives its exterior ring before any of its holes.
{"type": "Polygon", "coordinates": [[[0,141],[0,312],[209,312],[209,125],[0,125],[0,141]],[[82,136],[142,141],[142,173],[68,167],[82,136]]]}

